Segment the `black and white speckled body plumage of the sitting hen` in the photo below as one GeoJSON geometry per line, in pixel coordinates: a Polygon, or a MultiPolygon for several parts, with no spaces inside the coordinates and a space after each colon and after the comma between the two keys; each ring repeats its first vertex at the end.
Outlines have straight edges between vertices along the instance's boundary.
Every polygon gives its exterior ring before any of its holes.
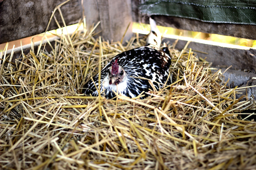
{"type": "MultiPolygon", "coordinates": [[[[171,58],[167,53],[169,53],[168,49],[164,52],[162,49],[143,46],[117,55],[101,70],[101,93],[106,98],[113,98],[115,94],[112,90],[116,92],[118,89],[119,94],[134,98],[142,91],[148,92],[149,89],[152,89],[148,80],[140,77],[152,80],[155,88],[159,90],[162,84],[168,81],[171,58]],[[122,82],[112,84],[109,70],[114,62],[123,68],[126,76],[122,82]]],[[[93,80],[98,88],[98,75],[93,80]]],[[[85,85],[85,89],[86,94],[98,96],[98,91],[92,80],[85,85]]]]}

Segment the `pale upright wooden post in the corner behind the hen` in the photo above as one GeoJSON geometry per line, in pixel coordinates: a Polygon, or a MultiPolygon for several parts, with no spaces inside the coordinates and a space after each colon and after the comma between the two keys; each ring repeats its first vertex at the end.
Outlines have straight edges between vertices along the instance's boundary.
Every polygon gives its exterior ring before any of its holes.
{"type": "Polygon", "coordinates": [[[120,41],[130,22],[124,41],[132,37],[131,0],[85,0],[84,13],[86,25],[100,21],[96,32],[105,40],[120,41]]]}

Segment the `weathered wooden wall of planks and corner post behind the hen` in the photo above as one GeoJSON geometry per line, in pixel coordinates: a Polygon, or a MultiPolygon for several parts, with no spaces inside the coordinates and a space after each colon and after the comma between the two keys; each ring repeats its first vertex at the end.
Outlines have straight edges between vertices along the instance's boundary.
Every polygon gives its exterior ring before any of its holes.
{"type": "MultiPolygon", "coordinates": [[[[66,0],[3,0],[0,2],[0,43],[44,32],[55,6],[63,2],[66,0]]],[[[120,41],[131,21],[148,23],[148,16],[140,14],[138,7],[141,2],[142,0],[69,0],[60,9],[66,25],[77,23],[84,10],[87,26],[101,21],[96,31],[102,31],[101,35],[105,40],[120,41]]],[[[55,15],[63,25],[59,13],[56,12],[55,15]]],[[[256,39],[256,25],[205,23],[168,16],[155,16],[154,19],[159,25],[178,29],[256,39]]],[[[56,28],[53,20],[49,30],[56,28]]],[[[131,36],[132,25],[126,39],[131,36]]],[[[189,47],[208,53],[198,55],[202,58],[208,57],[207,60],[213,65],[232,65],[236,69],[250,69],[254,72],[256,70],[255,50],[233,50],[198,43],[192,43],[189,47]]]]}

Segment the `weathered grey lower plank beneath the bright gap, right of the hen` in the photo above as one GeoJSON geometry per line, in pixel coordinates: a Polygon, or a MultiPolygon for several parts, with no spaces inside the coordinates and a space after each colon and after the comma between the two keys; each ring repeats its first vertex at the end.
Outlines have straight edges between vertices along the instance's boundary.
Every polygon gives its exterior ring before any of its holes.
{"type": "MultiPolygon", "coordinates": [[[[163,42],[169,41],[170,44],[174,43],[175,39],[163,39],[163,42]]],[[[187,41],[179,40],[176,49],[182,50],[187,41]]],[[[222,68],[227,68],[232,66],[231,69],[236,70],[251,70],[256,73],[256,50],[249,49],[234,49],[225,48],[215,45],[208,45],[202,43],[191,42],[188,45],[188,49],[201,51],[195,52],[198,57],[202,59],[206,58],[206,61],[211,62],[212,66],[219,66],[222,68]],[[205,54],[207,53],[207,54],[205,54]]]]}

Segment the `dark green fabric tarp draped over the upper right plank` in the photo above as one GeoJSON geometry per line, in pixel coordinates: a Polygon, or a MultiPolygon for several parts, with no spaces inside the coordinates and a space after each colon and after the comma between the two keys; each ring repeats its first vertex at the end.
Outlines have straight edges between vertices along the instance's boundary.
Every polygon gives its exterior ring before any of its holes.
{"type": "Polygon", "coordinates": [[[145,0],[142,15],[165,15],[213,23],[256,25],[255,0],[145,0]]]}

